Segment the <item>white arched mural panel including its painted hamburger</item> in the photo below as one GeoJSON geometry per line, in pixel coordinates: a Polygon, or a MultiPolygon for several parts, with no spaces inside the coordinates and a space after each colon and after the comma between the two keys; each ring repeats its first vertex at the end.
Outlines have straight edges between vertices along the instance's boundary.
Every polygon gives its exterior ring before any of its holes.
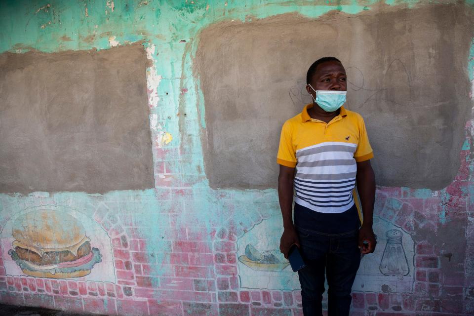
{"type": "Polygon", "coordinates": [[[71,209],[27,209],[5,223],[0,242],[6,272],[13,276],[116,280],[110,237],[71,209]]]}

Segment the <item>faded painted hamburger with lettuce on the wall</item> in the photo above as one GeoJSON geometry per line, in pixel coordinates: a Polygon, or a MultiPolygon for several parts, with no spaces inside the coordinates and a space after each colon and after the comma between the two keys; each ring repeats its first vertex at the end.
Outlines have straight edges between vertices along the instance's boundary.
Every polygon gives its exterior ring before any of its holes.
{"type": "Polygon", "coordinates": [[[13,223],[13,249],[8,254],[29,276],[68,278],[87,276],[102,261],[79,221],[66,213],[40,210],[13,223]]]}

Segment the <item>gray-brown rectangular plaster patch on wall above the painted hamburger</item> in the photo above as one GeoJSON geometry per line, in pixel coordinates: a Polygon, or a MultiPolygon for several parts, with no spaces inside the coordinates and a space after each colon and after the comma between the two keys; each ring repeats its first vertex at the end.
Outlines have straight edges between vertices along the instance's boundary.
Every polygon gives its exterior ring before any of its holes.
{"type": "Polygon", "coordinates": [[[0,192],[154,187],[142,45],[0,55],[0,192]]]}

